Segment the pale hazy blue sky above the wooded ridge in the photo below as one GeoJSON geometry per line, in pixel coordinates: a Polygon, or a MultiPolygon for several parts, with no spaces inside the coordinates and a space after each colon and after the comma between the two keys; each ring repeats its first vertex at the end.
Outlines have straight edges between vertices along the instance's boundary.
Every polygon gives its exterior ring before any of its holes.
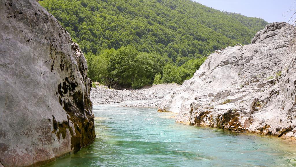
{"type": "Polygon", "coordinates": [[[295,0],[193,0],[208,7],[227,12],[241,13],[248,17],[263,18],[265,21],[288,22],[292,16],[289,10],[296,9],[295,0]],[[286,13],[284,13],[286,12],[286,13]]]}

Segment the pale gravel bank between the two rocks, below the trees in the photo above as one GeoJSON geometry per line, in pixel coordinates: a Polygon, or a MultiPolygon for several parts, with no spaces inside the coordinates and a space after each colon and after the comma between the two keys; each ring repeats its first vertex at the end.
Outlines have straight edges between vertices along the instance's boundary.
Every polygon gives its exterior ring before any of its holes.
{"type": "Polygon", "coordinates": [[[91,88],[90,98],[93,104],[110,104],[125,107],[157,107],[161,99],[179,86],[176,83],[168,83],[131,90],[96,87],[91,88]]]}

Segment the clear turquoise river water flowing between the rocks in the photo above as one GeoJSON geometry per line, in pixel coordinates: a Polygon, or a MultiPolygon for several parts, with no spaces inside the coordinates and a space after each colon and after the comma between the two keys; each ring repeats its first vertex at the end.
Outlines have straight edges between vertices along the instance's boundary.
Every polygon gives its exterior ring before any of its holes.
{"type": "Polygon", "coordinates": [[[94,143],[46,166],[296,166],[293,141],[179,124],[155,108],[93,110],[94,143]]]}

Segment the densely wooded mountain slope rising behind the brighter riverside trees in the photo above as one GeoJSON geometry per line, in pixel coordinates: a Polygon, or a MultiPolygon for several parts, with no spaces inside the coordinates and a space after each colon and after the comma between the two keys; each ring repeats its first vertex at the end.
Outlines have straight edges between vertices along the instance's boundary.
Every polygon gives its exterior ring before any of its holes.
{"type": "Polygon", "coordinates": [[[255,35],[237,19],[187,0],[44,0],[40,4],[85,53],[133,44],[139,51],[167,53],[174,59],[175,53],[207,55],[236,42],[248,44],[255,35]]]}

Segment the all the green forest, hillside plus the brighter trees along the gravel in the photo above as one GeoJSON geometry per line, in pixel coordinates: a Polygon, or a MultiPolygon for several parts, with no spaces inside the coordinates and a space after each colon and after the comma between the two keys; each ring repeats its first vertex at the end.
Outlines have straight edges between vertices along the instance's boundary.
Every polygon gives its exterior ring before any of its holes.
{"type": "Polygon", "coordinates": [[[216,49],[249,44],[266,21],[189,0],[42,0],[112,88],[178,83],[216,49]]]}

